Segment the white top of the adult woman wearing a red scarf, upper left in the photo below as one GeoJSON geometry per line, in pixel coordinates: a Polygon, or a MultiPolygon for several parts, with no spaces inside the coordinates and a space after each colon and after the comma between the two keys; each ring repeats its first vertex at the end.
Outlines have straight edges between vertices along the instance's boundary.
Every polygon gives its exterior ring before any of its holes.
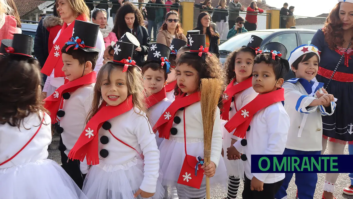
{"type": "MultiPolygon", "coordinates": [[[[67,25],[70,25],[70,24],[67,24],[67,25]]],[[[55,39],[53,40],[53,44],[55,44],[56,40],[59,38],[60,33],[61,33],[61,30],[59,30],[58,34],[56,35],[55,39]]],[[[104,50],[105,50],[104,39],[103,39],[103,35],[102,35],[101,31],[98,31],[96,48],[101,50],[101,52],[98,54],[98,59],[96,62],[96,66],[94,68],[94,71],[96,71],[98,74],[98,71],[101,69],[101,67],[103,65],[103,54],[104,54],[104,50]]],[[[60,51],[61,51],[61,49],[60,49],[60,51]]],[[[50,76],[47,77],[47,80],[46,80],[44,87],[43,87],[43,92],[48,92],[49,85],[52,85],[53,87],[59,88],[63,84],[64,84],[64,77],[54,77],[54,69],[53,69],[52,74],[50,74],[50,76]]]]}

